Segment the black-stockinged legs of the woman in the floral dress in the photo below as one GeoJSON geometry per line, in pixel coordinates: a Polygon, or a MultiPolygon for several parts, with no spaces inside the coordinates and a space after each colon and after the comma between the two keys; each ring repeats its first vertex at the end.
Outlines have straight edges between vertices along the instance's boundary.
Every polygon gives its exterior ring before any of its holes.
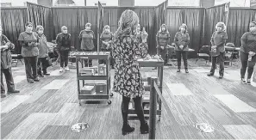
{"type": "MultiPolygon", "coordinates": [[[[134,108],[135,112],[140,119],[140,124],[145,123],[145,118],[144,118],[144,111],[142,108],[142,97],[135,97],[133,98],[134,100],[134,108]]],[[[122,121],[123,124],[128,123],[128,106],[129,106],[130,98],[126,96],[122,96],[122,121]]]]}

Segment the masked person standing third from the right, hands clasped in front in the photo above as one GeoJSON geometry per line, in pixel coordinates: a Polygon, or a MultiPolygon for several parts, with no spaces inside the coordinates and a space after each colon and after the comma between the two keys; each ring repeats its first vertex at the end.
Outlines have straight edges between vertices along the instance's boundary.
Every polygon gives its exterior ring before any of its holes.
{"type": "Polygon", "coordinates": [[[180,72],[180,66],[181,66],[181,56],[184,61],[184,69],[186,73],[189,73],[188,70],[188,51],[189,51],[189,43],[190,43],[190,34],[187,31],[187,26],[185,24],[182,24],[179,27],[179,32],[175,34],[174,37],[174,43],[175,43],[175,51],[176,56],[178,59],[178,70],[177,72],[180,72]]]}

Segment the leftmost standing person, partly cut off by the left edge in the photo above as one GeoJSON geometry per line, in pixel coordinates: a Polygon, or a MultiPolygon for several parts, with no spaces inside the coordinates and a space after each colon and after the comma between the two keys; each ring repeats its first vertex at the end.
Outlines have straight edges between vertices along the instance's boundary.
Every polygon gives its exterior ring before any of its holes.
{"type": "Polygon", "coordinates": [[[13,76],[11,72],[11,52],[15,48],[5,35],[2,34],[2,27],[0,27],[0,43],[1,43],[1,98],[6,97],[5,89],[3,85],[3,74],[6,79],[8,93],[19,93],[19,90],[15,89],[13,76]]]}

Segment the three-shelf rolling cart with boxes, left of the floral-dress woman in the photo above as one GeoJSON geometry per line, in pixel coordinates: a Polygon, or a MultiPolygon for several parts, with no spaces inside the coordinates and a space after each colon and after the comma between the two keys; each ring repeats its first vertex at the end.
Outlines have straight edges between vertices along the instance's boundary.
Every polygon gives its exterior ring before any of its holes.
{"type": "Polygon", "coordinates": [[[76,57],[79,105],[81,106],[81,100],[108,100],[108,104],[111,104],[109,96],[113,96],[113,94],[110,90],[110,52],[71,52],[70,56],[76,57]],[[91,71],[92,75],[84,75],[81,70],[85,68],[84,60],[87,61],[88,59],[105,59],[107,61],[105,72],[101,74],[100,70],[95,70],[97,72],[91,71]],[[79,68],[78,62],[81,62],[80,66],[82,69],[79,68]],[[83,83],[82,88],[81,81],[83,83]],[[103,89],[105,91],[98,91],[97,88],[95,89],[97,85],[88,85],[85,84],[84,81],[106,81],[106,85],[104,85],[103,89]]]}

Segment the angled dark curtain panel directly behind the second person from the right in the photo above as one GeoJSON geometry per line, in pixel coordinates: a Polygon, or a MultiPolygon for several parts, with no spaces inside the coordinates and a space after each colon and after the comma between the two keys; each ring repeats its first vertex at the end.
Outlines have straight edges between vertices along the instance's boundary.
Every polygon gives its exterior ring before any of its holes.
{"type": "MultiPolygon", "coordinates": [[[[215,31],[215,25],[217,22],[222,21],[225,23],[225,4],[211,7],[205,10],[204,21],[204,45],[210,45],[210,38],[215,31]]],[[[229,38],[229,37],[228,37],[229,38]]]]}

